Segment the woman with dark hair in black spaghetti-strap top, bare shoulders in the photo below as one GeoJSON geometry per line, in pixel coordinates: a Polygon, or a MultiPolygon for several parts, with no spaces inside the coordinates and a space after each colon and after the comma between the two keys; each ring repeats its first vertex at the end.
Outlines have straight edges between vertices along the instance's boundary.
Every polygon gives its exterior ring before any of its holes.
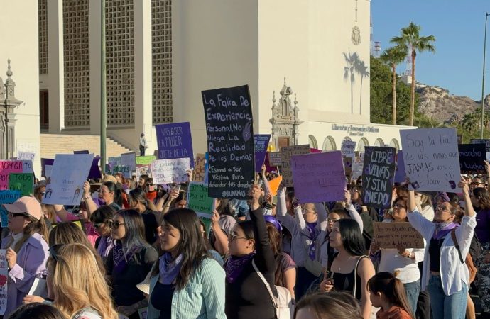
{"type": "Polygon", "coordinates": [[[341,219],[329,234],[330,246],[339,253],[334,257],[330,274],[320,284],[320,291],[348,291],[361,303],[364,319],[371,316],[368,280],[374,276],[374,266],[364,255],[365,242],[359,223],[341,219]]]}

